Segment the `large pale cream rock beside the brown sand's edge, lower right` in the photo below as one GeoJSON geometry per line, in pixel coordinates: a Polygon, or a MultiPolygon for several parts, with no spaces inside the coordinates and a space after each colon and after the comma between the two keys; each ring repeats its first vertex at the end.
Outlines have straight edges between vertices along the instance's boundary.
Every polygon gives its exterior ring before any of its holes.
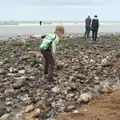
{"type": "Polygon", "coordinates": [[[80,103],[80,102],[89,102],[90,100],[92,99],[92,94],[89,92],[89,93],[83,93],[80,95],[80,97],[78,98],[77,102],[80,103]]]}

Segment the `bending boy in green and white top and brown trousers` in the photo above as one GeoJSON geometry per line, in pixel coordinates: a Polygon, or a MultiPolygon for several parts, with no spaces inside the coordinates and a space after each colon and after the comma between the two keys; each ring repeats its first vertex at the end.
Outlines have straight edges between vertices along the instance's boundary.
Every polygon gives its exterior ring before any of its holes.
{"type": "Polygon", "coordinates": [[[56,55],[56,45],[59,42],[59,39],[64,35],[64,27],[56,26],[55,32],[49,33],[43,39],[42,44],[40,45],[41,53],[45,58],[44,65],[44,75],[48,74],[47,79],[53,81],[53,72],[55,67],[55,55],[56,55]]]}

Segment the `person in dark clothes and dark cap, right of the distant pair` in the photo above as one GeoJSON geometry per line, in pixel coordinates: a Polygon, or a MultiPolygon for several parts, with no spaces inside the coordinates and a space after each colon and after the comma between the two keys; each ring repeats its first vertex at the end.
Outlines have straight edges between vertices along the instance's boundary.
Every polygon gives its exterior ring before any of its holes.
{"type": "Polygon", "coordinates": [[[92,40],[96,41],[99,28],[99,20],[97,15],[94,16],[92,20],[91,30],[92,30],[92,40]]]}

